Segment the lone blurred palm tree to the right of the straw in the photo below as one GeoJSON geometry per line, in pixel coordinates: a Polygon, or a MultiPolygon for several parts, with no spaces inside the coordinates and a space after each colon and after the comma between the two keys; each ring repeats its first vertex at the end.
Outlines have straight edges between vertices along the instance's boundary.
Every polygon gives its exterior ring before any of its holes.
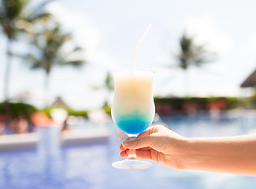
{"type": "MultiPolygon", "coordinates": [[[[180,50],[176,55],[178,66],[187,71],[192,65],[201,66],[207,62],[213,61],[216,54],[206,50],[205,45],[198,45],[195,39],[188,36],[186,32],[180,37],[180,50]]],[[[184,91],[187,93],[187,78],[184,78],[184,91]]],[[[187,95],[187,94],[186,94],[187,95]]]]}

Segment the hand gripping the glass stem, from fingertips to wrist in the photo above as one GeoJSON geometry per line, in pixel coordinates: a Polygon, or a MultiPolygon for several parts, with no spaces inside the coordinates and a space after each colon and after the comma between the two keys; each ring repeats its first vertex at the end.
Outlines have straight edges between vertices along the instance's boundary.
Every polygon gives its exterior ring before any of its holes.
{"type": "Polygon", "coordinates": [[[126,139],[120,146],[120,156],[128,157],[129,149],[135,150],[138,158],[157,161],[161,165],[181,169],[180,156],[186,138],[162,125],[156,125],[140,133],[136,139],[126,139]]]}

